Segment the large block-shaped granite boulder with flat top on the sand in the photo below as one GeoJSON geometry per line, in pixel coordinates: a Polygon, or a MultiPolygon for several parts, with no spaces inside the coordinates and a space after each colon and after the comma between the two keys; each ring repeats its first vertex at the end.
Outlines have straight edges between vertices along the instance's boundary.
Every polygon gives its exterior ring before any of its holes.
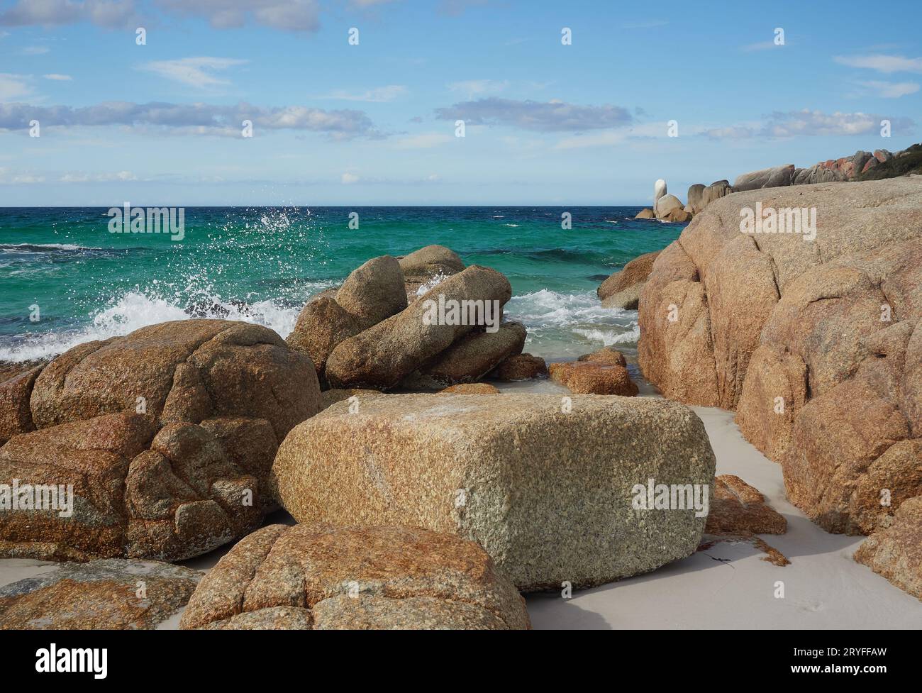
{"type": "Polygon", "coordinates": [[[637,506],[636,485],[701,489],[714,470],[701,420],[667,400],[393,394],[357,414],[341,402],[293,429],[273,475],[301,523],[456,534],[536,591],[691,555],[703,515],[647,510],[645,490],[637,506]]]}

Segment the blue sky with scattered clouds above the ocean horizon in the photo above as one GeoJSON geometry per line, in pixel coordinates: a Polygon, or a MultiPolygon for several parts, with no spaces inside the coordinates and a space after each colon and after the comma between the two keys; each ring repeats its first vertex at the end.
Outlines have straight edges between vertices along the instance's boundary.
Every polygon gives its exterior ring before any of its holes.
{"type": "Polygon", "coordinates": [[[920,26],[918,0],[0,0],[0,206],[685,200],[922,140],[920,26]]]}

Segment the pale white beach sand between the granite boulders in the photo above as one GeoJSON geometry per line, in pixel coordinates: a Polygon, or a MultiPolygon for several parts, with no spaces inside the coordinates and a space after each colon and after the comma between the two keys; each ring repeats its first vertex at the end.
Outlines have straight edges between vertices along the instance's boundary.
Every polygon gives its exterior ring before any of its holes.
{"type": "MultiPolygon", "coordinates": [[[[641,393],[655,390],[638,378],[641,393]]],[[[499,384],[499,383],[497,383],[499,384]]],[[[568,391],[553,382],[502,384],[502,390],[568,391]]],[[[922,602],[852,560],[860,536],[827,534],[785,499],[781,467],[743,440],[731,412],[692,407],[717,457],[717,474],[758,488],[787,518],[787,534],[762,538],[790,559],[776,567],[748,544],[721,543],[646,575],[562,599],[527,597],[534,628],[922,628],[922,602]],[[775,582],[784,581],[784,598],[775,582]]],[[[292,522],[284,512],[268,522],[292,522]]],[[[208,570],[228,547],[183,565],[208,570]]],[[[0,559],[0,585],[53,570],[43,561],[0,559]]],[[[176,628],[179,616],[161,628],[176,628]]]]}

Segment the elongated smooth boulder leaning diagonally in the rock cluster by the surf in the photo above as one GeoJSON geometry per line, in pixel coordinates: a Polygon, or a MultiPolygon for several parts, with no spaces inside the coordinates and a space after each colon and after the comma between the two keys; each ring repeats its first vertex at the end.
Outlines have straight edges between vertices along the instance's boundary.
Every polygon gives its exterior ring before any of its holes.
{"type": "MultiPolygon", "coordinates": [[[[341,342],[327,358],[326,380],[332,387],[338,388],[392,388],[418,370],[420,365],[428,363],[461,337],[478,329],[468,320],[424,320],[431,310],[426,305],[427,300],[443,301],[446,305],[479,301],[484,309],[495,309],[498,314],[494,317],[498,320],[502,306],[511,297],[512,287],[505,276],[489,267],[471,265],[431,288],[407,310],[341,342]]],[[[497,359],[491,368],[500,360],[502,358],[497,359]]]]}

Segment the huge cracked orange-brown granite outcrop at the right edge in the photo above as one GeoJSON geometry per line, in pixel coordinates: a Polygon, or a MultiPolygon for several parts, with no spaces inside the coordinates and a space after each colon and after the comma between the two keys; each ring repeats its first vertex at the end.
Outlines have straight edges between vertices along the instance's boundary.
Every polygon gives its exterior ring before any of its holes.
{"type": "Polygon", "coordinates": [[[737,409],[810,519],[866,534],[922,493],[920,318],[922,179],[751,191],[656,258],[639,361],[672,399],[737,409]],[[756,203],[815,209],[815,225],[740,233],[756,203]]]}

